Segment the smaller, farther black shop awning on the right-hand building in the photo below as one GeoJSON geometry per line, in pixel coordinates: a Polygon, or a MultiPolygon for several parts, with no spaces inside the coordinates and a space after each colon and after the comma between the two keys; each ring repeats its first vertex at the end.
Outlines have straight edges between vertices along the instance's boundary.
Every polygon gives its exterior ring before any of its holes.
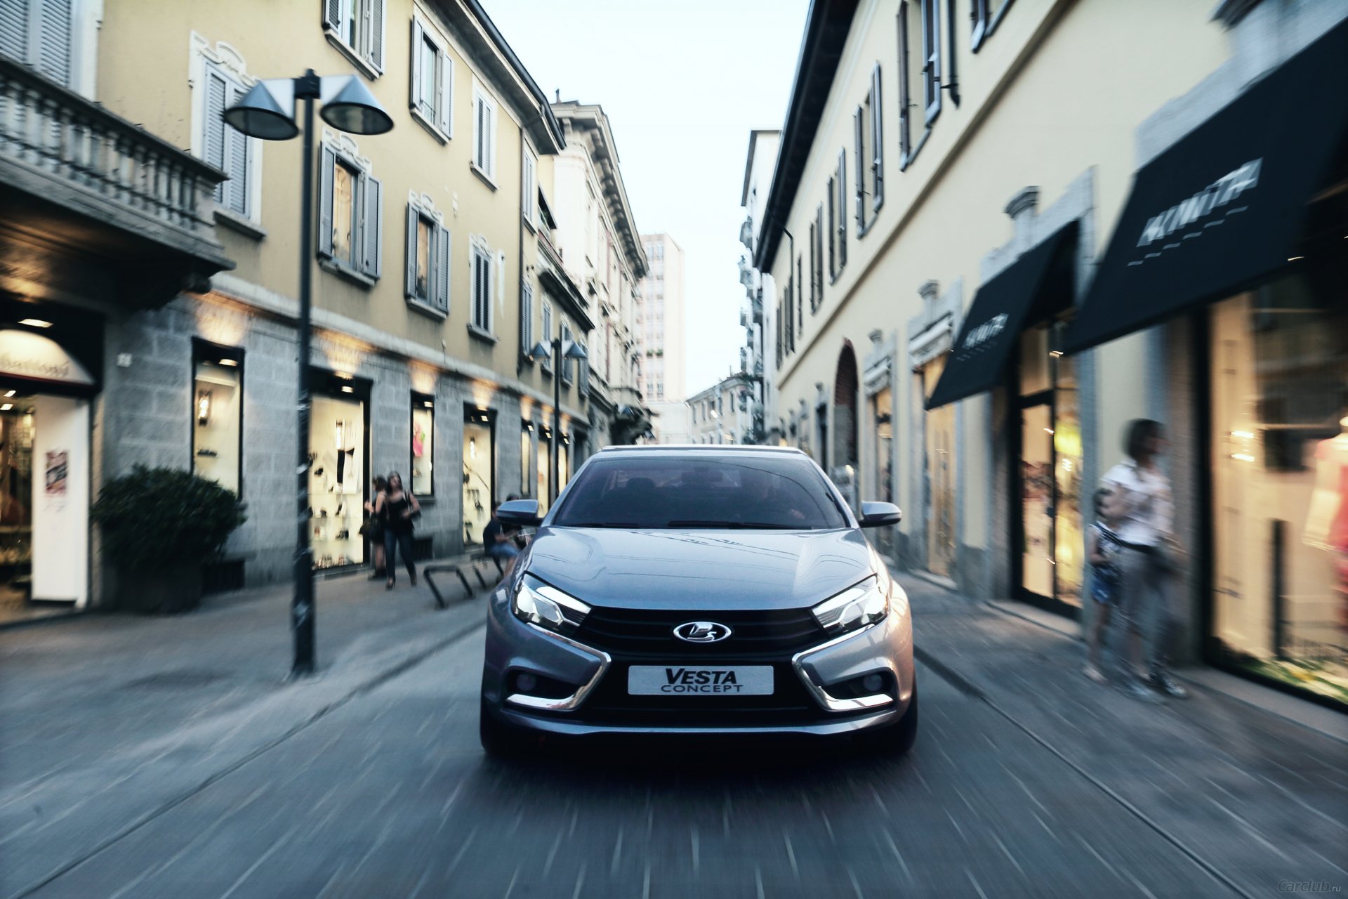
{"type": "Polygon", "coordinates": [[[926,408],[996,387],[1019,345],[1020,329],[1051,314],[1055,306],[1070,305],[1070,278],[1051,279],[1050,270],[1055,260],[1070,261],[1060,249],[1074,247],[1076,237],[1073,221],[979,288],[926,408]],[[1050,280],[1066,283],[1050,288],[1050,280]]]}

